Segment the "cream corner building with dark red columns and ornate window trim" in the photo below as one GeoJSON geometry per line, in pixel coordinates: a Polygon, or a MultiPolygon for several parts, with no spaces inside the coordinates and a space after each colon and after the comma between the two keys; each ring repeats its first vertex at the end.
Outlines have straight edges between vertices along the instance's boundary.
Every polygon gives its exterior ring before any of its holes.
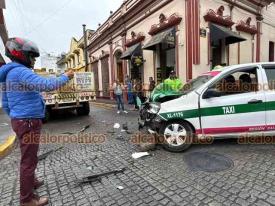
{"type": "Polygon", "coordinates": [[[216,65],[274,61],[275,6],[260,0],[127,0],[88,38],[99,96],[126,75],[183,82],[216,65]]]}

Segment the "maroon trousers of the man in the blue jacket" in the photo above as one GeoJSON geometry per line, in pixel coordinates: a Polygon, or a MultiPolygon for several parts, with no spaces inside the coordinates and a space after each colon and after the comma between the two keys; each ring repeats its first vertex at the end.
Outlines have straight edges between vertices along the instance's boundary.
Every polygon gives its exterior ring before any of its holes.
{"type": "Polygon", "coordinates": [[[20,202],[23,204],[35,197],[33,189],[42,121],[40,119],[12,119],[11,124],[20,143],[20,202]]]}

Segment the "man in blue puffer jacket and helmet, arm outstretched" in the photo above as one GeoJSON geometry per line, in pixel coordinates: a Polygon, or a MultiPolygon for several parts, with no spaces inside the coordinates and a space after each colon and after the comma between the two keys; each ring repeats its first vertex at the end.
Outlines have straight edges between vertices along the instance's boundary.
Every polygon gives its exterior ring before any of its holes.
{"type": "Polygon", "coordinates": [[[34,189],[44,184],[35,177],[42,119],[45,117],[45,103],[40,92],[60,88],[73,78],[74,73],[68,71],[59,78],[40,77],[32,71],[35,59],[40,56],[35,43],[10,38],[5,46],[6,56],[12,62],[0,68],[0,83],[3,109],[11,118],[12,128],[20,143],[20,204],[47,205],[48,198],[33,193],[34,189]]]}

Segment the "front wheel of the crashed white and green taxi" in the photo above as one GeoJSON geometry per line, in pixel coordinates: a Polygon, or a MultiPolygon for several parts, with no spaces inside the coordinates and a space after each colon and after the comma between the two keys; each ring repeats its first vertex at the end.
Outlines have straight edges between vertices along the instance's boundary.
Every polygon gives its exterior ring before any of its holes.
{"type": "Polygon", "coordinates": [[[159,140],[164,149],[170,152],[183,152],[187,150],[193,142],[194,131],[192,127],[181,121],[169,122],[160,129],[159,140]]]}

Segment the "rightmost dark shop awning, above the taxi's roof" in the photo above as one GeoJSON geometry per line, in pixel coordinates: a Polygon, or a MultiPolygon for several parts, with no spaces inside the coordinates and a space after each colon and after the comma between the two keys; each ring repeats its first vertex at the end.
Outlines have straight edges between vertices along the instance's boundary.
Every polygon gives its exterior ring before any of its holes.
{"type": "Polygon", "coordinates": [[[211,32],[211,41],[214,43],[223,39],[225,39],[226,45],[246,41],[246,39],[240,36],[239,34],[231,31],[226,27],[219,26],[216,24],[210,25],[210,32],[211,32]]]}

